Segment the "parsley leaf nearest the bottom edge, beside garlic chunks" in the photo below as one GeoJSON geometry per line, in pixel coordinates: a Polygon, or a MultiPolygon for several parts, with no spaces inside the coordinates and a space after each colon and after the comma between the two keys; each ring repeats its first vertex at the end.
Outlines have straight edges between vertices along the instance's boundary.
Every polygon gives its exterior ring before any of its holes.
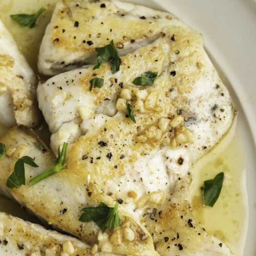
{"type": "Polygon", "coordinates": [[[118,227],[122,224],[118,216],[118,205],[116,203],[113,208],[101,202],[97,207],[83,208],[84,213],[79,218],[79,221],[88,222],[93,220],[102,232],[108,227],[118,227]]]}

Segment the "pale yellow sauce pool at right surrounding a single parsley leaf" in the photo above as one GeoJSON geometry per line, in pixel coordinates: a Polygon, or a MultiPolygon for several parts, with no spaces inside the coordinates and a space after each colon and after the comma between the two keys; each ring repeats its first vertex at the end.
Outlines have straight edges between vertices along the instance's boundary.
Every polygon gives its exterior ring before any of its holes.
{"type": "Polygon", "coordinates": [[[191,169],[193,182],[188,200],[197,221],[225,243],[234,255],[243,255],[248,205],[245,179],[245,156],[237,134],[236,120],[229,132],[210,153],[201,158],[191,169]],[[214,207],[205,206],[202,191],[205,180],[224,172],[221,194],[214,207]]]}

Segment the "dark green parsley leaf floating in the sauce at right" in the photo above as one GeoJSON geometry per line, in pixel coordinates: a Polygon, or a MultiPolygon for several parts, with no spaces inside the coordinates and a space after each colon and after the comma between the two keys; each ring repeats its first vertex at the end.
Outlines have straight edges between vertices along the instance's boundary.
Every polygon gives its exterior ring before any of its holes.
{"type": "Polygon", "coordinates": [[[204,186],[201,187],[203,191],[204,204],[214,206],[219,195],[223,184],[224,173],[219,173],[213,180],[206,180],[204,186]]]}

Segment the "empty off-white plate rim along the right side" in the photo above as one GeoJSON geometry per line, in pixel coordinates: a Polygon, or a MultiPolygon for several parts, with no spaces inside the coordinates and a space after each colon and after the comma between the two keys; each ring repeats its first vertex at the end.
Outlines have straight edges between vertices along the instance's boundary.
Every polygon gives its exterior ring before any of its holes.
{"type": "Polygon", "coordinates": [[[256,255],[256,1],[145,0],[140,4],[174,13],[203,34],[205,49],[240,113],[238,133],[246,150],[249,204],[244,255],[256,255]]]}

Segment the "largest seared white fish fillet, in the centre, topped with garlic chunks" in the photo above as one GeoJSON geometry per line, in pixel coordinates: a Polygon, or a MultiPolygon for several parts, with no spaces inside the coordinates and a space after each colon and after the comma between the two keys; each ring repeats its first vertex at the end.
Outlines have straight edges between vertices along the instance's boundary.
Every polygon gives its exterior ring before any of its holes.
{"type": "Polygon", "coordinates": [[[191,166],[219,142],[234,116],[201,35],[166,29],[121,59],[116,74],[109,64],[86,66],[39,85],[53,151],[69,141],[68,169],[113,200],[121,198],[161,255],[231,255],[196,222],[185,200],[191,166]],[[154,85],[135,86],[147,71],[158,72],[154,85]],[[90,91],[95,77],[104,85],[90,91]],[[136,124],[125,115],[127,103],[136,124]]]}

